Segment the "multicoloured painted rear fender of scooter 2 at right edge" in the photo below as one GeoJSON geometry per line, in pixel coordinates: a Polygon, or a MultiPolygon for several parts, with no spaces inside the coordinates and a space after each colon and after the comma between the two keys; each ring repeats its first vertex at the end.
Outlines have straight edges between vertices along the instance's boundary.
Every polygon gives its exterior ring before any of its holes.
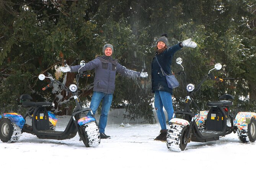
{"type": "Polygon", "coordinates": [[[255,112],[238,112],[234,121],[234,126],[242,130],[251,122],[252,117],[256,119],[255,112]]]}

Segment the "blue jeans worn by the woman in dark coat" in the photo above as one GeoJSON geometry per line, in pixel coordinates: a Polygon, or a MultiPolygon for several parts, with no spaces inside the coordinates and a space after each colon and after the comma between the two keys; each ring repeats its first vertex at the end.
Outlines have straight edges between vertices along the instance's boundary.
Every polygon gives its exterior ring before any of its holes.
{"type": "Polygon", "coordinates": [[[165,107],[169,122],[173,117],[173,101],[171,98],[171,93],[157,90],[155,91],[155,109],[157,111],[157,117],[161,126],[161,130],[166,129],[166,119],[165,113],[163,112],[163,107],[165,107]]]}

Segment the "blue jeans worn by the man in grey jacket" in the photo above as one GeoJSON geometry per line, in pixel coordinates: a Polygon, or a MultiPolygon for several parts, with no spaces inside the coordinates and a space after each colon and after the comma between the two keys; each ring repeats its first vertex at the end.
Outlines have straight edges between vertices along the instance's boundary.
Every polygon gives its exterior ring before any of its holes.
{"type": "MultiPolygon", "coordinates": [[[[108,112],[112,103],[113,94],[107,94],[99,91],[93,91],[93,96],[91,97],[90,108],[93,114],[96,113],[99,104],[102,100],[101,115],[99,117],[99,133],[105,133],[105,128],[108,121],[108,112]]],[[[90,115],[90,112],[87,114],[90,115]]]]}

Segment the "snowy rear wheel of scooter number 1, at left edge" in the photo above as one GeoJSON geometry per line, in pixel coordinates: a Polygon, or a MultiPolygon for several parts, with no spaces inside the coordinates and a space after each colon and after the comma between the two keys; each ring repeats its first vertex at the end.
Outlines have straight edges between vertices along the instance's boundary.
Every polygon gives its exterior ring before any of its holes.
{"type": "Polygon", "coordinates": [[[21,136],[21,129],[10,119],[3,118],[0,120],[0,140],[2,142],[16,142],[21,136]]]}

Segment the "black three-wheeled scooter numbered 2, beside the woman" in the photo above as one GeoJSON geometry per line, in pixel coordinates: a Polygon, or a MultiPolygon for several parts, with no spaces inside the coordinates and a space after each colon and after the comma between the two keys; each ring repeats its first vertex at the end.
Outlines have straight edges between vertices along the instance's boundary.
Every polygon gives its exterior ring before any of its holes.
{"type": "MultiPolygon", "coordinates": [[[[177,64],[182,63],[182,59],[178,58],[176,60],[177,64]]],[[[183,67],[183,66],[182,66],[183,67]]],[[[221,65],[219,63],[215,64],[214,69],[221,69],[221,65]]],[[[211,107],[210,111],[205,114],[206,116],[204,117],[204,123],[205,127],[207,127],[207,121],[210,122],[210,119],[215,119],[215,117],[212,116],[212,110],[214,109],[215,111],[218,111],[218,113],[221,115],[221,130],[217,130],[217,132],[212,131],[213,133],[208,133],[208,134],[202,134],[205,131],[202,131],[199,129],[197,123],[198,118],[201,114],[199,107],[196,105],[196,103],[192,100],[192,94],[196,91],[198,91],[202,85],[202,83],[205,82],[207,79],[212,79],[212,80],[218,80],[220,82],[223,81],[223,79],[219,79],[217,77],[214,77],[210,72],[214,69],[211,69],[207,75],[205,75],[204,79],[197,85],[197,88],[194,88],[194,85],[188,84],[187,85],[187,90],[188,90],[188,96],[186,96],[186,102],[183,111],[174,111],[173,114],[173,119],[170,120],[170,127],[168,129],[167,133],[167,148],[170,149],[171,151],[183,151],[186,148],[186,145],[190,141],[196,141],[196,142],[208,142],[208,141],[215,141],[219,140],[220,136],[225,136],[230,133],[236,133],[238,130],[238,137],[240,141],[242,142],[254,142],[256,140],[256,114],[254,112],[249,112],[247,113],[247,120],[249,119],[249,123],[243,123],[244,126],[241,128],[238,128],[238,125],[241,124],[241,119],[238,119],[237,117],[244,117],[244,113],[238,113],[236,115],[235,119],[235,124],[233,123],[233,117],[230,115],[230,106],[233,105],[233,102],[230,101],[230,99],[234,99],[232,95],[222,95],[220,96],[220,101],[214,101],[214,102],[209,102],[207,105],[211,107]],[[194,114],[191,112],[189,106],[193,102],[195,106],[197,107],[199,113],[194,114]],[[183,115],[183,119],[181,118],[174,118],[176,115],[183,115]],[[255,116],[254,116],[255,115],[255,116]],[[227,119],[228,117],[230,118],[230,124],[231,126],[227,126],[227,119]],[[207,120],[207,119],[208,120],[207,120]],[[251,120],[251,123],[250,123],[251,120]],[[250,129],[251,132],[248,132],[247,127],[250,129]],[[249,136],[249,140],[245,140],[246,136],[249,136]]],[[[184,68],[183,68],[184,70],[184,68]]],[[[178,72],[178,74],[184,74],[184,71],[178,72]]],[[[185,77],[185,82],[186,82],[186,76],[185,77]]],[[[203,111],[204,112],[204,111],[203,111]]],[[[242,120],[243,121],[243,120],[242,120]]]]}

